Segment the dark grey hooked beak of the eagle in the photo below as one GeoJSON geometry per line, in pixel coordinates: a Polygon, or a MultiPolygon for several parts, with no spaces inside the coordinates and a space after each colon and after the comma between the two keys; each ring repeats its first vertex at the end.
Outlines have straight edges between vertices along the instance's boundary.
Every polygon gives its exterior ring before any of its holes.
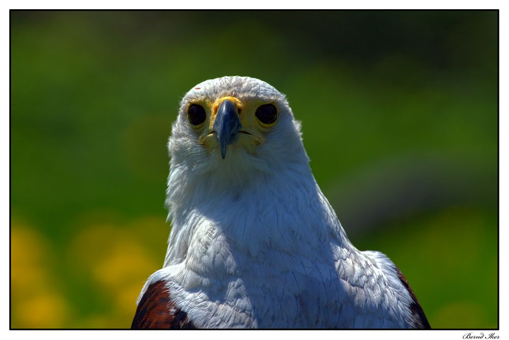
{"type": "Polygon", "coordinates": [[[237,106],[229,99],[225,99],[217,109],[217,115],[214,121],[214,131],[219,140],[221,157],[226,157],[228,145],[235,143],[239,139],[239,130],[242,127],[240,123],[237,106]]]}

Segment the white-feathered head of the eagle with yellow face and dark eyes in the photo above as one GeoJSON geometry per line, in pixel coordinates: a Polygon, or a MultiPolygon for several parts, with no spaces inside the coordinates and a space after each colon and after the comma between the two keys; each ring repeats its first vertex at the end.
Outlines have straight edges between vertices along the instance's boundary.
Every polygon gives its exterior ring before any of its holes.
{"type": "Polygon", "coordinates": [[[226,76],[203,81],[182,99],[168,143],[172,169],[186,180],[257,180],[307,164],[300,123],[284,94],[265,81],[226,76]]]}

